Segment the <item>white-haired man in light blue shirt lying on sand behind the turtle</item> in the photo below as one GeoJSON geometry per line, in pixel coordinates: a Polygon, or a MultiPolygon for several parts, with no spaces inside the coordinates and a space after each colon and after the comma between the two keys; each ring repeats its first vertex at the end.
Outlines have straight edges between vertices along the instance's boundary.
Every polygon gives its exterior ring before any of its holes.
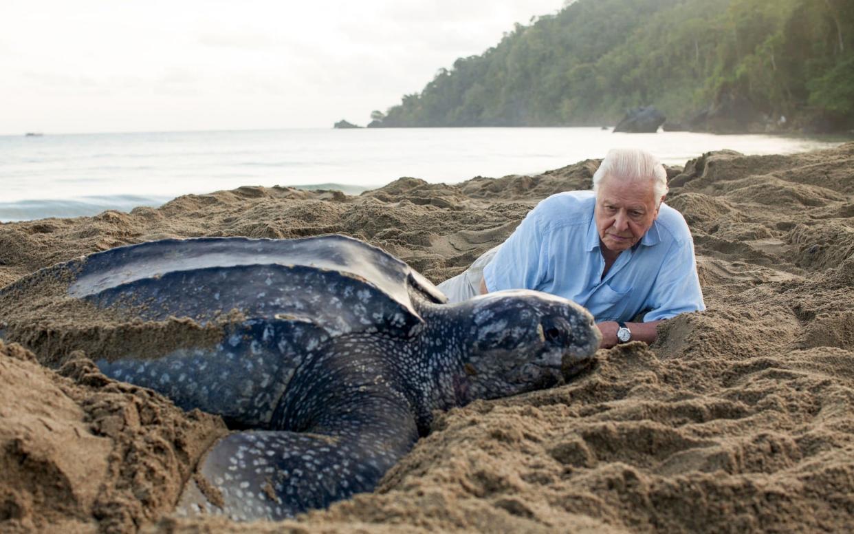
{"type": "Polygon", "coordinates": [[[565,191],[532,209],[510,238],[439,285],[452,302],[532,289],[588,308],[602,347],[651,343],[658,325],[705,309],[691,232],[662,203],[667,174],[642,150],[611,150],[593,191],[565,191]],[[629,323],[643,313],[642,322],[629,323]]]}

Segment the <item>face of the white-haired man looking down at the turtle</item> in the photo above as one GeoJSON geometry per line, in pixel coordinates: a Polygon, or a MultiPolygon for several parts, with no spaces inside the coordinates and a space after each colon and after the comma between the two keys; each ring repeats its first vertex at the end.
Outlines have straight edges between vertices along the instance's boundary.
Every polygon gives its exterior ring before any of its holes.
{"type": "Polygon", "coordinates": [[[594,217],[605,249],[632,248],[658,217],[652,179],[623,180],[605,176],[596,195],[594,217]]]}

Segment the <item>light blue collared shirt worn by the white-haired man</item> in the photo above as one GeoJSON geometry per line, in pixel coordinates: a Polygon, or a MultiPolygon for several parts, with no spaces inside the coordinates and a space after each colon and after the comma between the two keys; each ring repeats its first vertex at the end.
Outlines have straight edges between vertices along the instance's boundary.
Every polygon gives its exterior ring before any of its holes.
{"type": "Polygon", "coordinates": [[[664,202],[658,219],[602,278],[593,191],[566,191],[532,209],[483,270],[490,291],[541,290],[588,308],[596,322],[670,319],[705,309],[691,232],[664,202]]]}

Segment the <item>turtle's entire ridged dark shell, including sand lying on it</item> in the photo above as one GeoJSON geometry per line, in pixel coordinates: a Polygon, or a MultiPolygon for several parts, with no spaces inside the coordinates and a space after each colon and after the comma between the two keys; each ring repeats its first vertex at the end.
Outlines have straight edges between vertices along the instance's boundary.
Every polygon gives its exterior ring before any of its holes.
{"type": "Polygon", "coordinates": [[[83,349],[110,378],[266,428],[330,338],[415,335],[424,325],[416,299],[445,302],[406,263],[352,238],[167,239],[18,280],[0,290],[0,326],[8,321],[13,340],[44,361],[83,349]]]}

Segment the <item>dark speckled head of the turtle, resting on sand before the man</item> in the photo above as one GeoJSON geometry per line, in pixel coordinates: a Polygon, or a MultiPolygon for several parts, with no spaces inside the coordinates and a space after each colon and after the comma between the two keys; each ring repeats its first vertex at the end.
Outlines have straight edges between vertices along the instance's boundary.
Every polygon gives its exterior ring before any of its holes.
{"type": "Polygon", "coordinates": [[[601,335],[575,302],[532,290],[505,290],[459,304],[464,321],[462,402],[538,390],[593,361],[601,335]]]}

